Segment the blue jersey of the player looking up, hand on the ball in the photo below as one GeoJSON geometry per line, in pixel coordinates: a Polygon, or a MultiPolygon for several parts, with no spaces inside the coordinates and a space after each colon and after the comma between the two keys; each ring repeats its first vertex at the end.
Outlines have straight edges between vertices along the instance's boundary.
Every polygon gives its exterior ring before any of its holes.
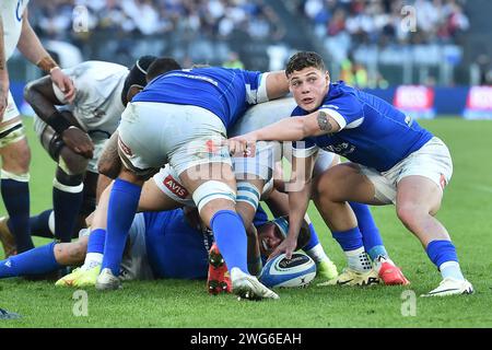
{"type": "MultiPolygon", "coordinates": [[[[348,160],[385,172],[419,150],[433,135],[384,100],[345,85],[330,83],[318,110],[340,124],[339,132],[294,142],[296,149],[319,147],[348,160]]],[[[308,112],[296,107],[292,116],[308,112]]]]}

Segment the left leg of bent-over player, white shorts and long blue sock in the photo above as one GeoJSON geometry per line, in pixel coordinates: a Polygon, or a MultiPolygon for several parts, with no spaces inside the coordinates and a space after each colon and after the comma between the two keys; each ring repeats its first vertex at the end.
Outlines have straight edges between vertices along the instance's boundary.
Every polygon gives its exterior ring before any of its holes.
{"type": "Polygon", "coordinates": [[[121,115],[118,153],[124,166],[109,195],[104,257],[96,283],[98,290],[120,287],[117,276],[143,183],[167,162],[167,154],[181,135],[179,128],[185,128],[178,122],[180,110],[175,109],[168,104],[130,103],[121,115]],[[169,132],[176,138],[164,137],[169,132]]]}

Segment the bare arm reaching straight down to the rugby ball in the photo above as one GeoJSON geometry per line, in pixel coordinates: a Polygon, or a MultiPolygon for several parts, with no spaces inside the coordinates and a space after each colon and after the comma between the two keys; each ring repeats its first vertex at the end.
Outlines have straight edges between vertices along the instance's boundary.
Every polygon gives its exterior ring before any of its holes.
{"type": "Polygon", "coordinates": [[[270,257],[281,253],[290,259],[297,245],[297,236],[311,199],[312,175],[316,154],[293,156],[292,174],[289,183],[289,233],[270,257]]]}

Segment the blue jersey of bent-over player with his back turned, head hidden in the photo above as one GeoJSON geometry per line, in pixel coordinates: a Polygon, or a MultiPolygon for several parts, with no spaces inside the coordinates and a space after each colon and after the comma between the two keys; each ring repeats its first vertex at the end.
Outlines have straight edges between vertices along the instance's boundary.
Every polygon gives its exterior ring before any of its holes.
{"type": "Polygon", "coordinates": [[[254,104],[268,101],[261,72],[218,67],[174,70],[152,80],[131,102],[160,102],[206,108],[226,128],[254,104]]]}

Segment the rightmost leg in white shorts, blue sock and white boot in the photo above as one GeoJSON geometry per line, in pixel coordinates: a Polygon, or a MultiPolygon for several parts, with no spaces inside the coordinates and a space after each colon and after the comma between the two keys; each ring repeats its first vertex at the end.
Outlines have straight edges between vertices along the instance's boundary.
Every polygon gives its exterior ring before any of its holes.
{"type": "Polygon", "coordinates": [[[443,278],[441,285],[426,296],[473,292],[472,285],[462,276],[448,232],[434,218],[452,173],[449,152],[441,140],[434,138],[406,160],[398,178],[398,218],[420,240],[443,278]]]}

